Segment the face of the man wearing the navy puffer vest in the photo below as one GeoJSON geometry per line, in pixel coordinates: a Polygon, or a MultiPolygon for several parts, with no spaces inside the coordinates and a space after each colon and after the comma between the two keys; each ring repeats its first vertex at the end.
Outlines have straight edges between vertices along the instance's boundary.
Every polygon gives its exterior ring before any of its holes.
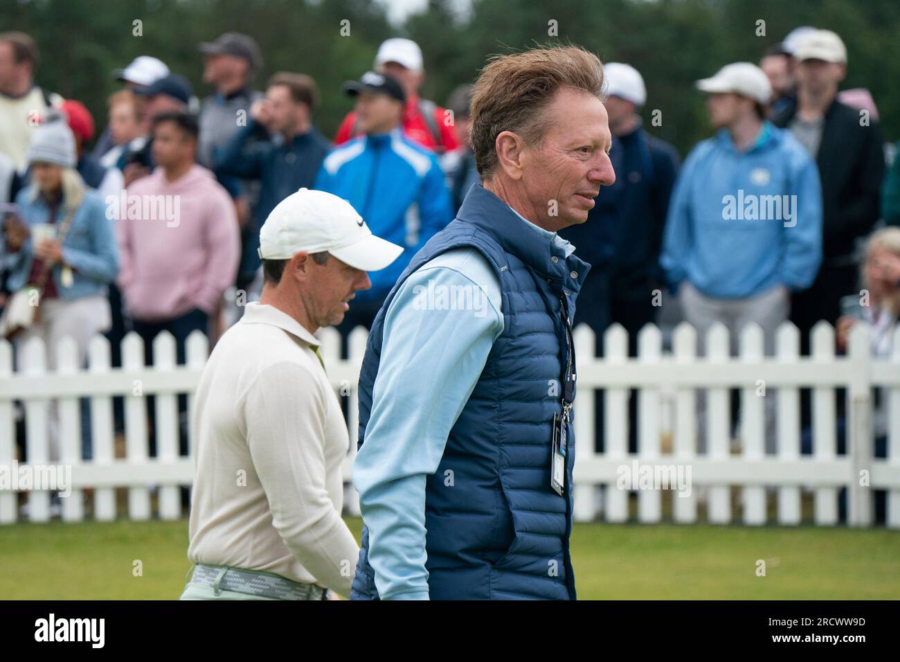
{"type": "Polygon", "coordinates": [[[607,111],[596,96],[563,89],[545,113],[550,125],[539,145],[526,148],[531,154],[522,178],[533,207],[546,210],[545,227],[554,231],[587,221],[600,186],[613,184],[616,173],[607,111]]]}

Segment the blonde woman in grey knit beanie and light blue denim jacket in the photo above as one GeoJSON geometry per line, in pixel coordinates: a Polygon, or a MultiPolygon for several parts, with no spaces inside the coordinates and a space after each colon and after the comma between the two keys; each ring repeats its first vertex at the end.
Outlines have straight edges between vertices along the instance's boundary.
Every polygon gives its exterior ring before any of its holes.
{"type": "MultiPolygon", "coordinates": [[[[83,364],[89,340],[109,328],[106,288],[119,270],[118,244],[103,200],[75,169],[75,138],[64,119],[51,116],[35,129],[28,163],[31,186],[16,197],[19,218],[6,222],[0,256],[10,292],[40,292],[33,316],[14,335],[19,367],[27,369],[23,346],[37,337],[55,370],[59,340],[72,337],[83,364]]],[[[51,459],[58,454],[54,410],[51,459]]]]}

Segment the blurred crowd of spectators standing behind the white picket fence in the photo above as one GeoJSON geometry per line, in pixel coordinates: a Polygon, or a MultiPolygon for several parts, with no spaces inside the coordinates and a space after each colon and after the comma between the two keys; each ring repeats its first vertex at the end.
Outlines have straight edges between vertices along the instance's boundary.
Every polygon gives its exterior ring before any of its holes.
{"type": "MultiPolygon", "coordinates": [[[[0,33],[0,307],[20,365],[31,337],[46,341],[53,368],[59,339],[71,336],[84,362],[100,332],[119,365],[132,330],[148,363],[160,331],[175,337],[184,361],[192,331],[214,342],[257,298],[259,227],[302,187],[347,199],[374,233],[405,247],[356,297],[339,327],[346,340],[374,320],[410,258],[480,182],[471,86],[461,84],[446,107],[422,98],[413,41],[384,41],[372,69],[342,84],[348,113],[333,140],[317,129],[320,83],[285,71],[257,89],[263,52],[252,37],[201,43],[201,61],[210,88],[202,100],[161,59],[123,63],[98,131],[84,104],[40,86],[31,38],[0,33]],[[35,295],[40,306],[26,309],[35,295]]],[[[637,332],[661,312],[696,327],[701,352],[714,322],[732,331],[733,352],[739,331],[756,322],[773,354],[786,320],[804,353],[820,320],[836,327],[838,349],[865,320],[873,353],[893,350],[900,161],[869,92],[842,89],[849,66],[839,35],[803,27],[758,64],[710,70],[696,86],[714,134],[682,161],[653,135],[661,112],[648,105],[653,90],[641,74],[606,65],[617,179],[588,222],[561,232],[593,265],[576,323],[597,332],[599,353],[603,331],[619,323],[635,355],[637,332]]]]}

